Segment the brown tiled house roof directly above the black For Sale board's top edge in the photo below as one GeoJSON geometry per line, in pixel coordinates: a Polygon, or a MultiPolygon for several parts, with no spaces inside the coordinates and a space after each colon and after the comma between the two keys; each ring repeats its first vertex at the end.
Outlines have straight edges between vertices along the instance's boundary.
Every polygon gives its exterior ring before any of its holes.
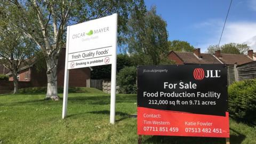
{"type": "MultiPolygon", "coordinates": [[[[174,51],[172,51],[174,52],[174,51]]],[[[201,53],[201,58],[198,58],[193,52],[174,52],[184,63],[191,64],[220,64],[220,62],[208,53],[201,53]]]]}

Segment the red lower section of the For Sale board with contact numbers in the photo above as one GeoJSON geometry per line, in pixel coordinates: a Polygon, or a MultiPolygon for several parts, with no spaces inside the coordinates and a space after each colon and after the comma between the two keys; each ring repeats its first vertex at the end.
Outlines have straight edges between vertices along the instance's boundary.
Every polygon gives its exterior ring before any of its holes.
{"type": "Polygon", "coordinates": [[[229,138],[226,116],[180,113],[138,107],[138,134],[229,138]]]}

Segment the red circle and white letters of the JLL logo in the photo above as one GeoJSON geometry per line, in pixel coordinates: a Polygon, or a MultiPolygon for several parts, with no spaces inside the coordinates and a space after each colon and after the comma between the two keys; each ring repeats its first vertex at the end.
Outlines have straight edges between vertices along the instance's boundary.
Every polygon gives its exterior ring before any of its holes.
{"type": "Polygon", "coordinates": [[[204,69],[202,68],[195,68],[193,71],[193,76],[196,80],[201,81],[202,79],[206,78],[214,78],[220,77],[220,70],[206,70],[206,75],[204,73],[204,69]]]}

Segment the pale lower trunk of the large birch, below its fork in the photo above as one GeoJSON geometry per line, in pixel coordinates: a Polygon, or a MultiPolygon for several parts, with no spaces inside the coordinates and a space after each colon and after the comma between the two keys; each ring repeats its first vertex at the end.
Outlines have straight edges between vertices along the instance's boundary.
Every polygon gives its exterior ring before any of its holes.
{"type": "Polygon", "coordinates": [[[46,60],[47,63],[47,93],[46,99],[59,100],[57,86],[58,59],[46,60]]]}

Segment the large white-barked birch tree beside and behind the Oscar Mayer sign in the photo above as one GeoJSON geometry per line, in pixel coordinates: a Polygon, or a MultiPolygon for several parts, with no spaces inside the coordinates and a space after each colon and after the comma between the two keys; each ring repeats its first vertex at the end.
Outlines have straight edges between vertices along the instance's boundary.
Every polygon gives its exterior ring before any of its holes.
{"type": "MultiPolygon", "coordinates": [[[[118,13],[118,34],[122,36],[127,31],[126,21],[129,12],[137,5],[144,5],[144,3],[142,0],[4,0],[1,6],[4,7],[6,13],[14,13],[14,17],[9,19],[9,22],[33,39],[42,50],[47,65],[46,99],[59,100],[57,66],[58,57],[65,42],[66,26],[118,13]],[[20,20],[20,25],[17,25],[15,20],[20,20]]],[[[122,37],[119,37],[118,42],[123,42],[122,37]]]]}

